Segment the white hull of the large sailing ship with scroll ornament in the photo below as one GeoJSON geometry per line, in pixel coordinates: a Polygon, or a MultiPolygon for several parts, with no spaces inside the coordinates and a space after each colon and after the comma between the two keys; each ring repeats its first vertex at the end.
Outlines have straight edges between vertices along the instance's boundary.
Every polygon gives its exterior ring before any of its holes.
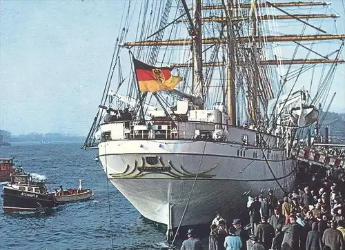
{"type": "Polygon", "coordinates": [[[99,160],[115,187],[141,215],[168,229],[178,227],[190,193],[181,226],[208,223],[216,209],[235,216],[246,206],[246,191],[257,196],[273,189],[282,196],[279,185],[291,191],[294,163],[284,154],[284,149],[195,140],[99,143],[99,160]]]}

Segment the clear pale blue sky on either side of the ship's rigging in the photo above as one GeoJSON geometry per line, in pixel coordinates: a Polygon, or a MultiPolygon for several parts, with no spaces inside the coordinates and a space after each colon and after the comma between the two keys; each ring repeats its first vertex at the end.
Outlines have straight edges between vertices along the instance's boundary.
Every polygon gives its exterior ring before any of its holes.
{"type": "MultiPolygon", "coordinates": [[[[125,2],[0,1],[0,129],[86,136],[125,2]]],[[[345,23],[342,0],[333,3],[345,23]]],[[[331,111],[345,112],[344,72],[335,79],[331,111]]]]}

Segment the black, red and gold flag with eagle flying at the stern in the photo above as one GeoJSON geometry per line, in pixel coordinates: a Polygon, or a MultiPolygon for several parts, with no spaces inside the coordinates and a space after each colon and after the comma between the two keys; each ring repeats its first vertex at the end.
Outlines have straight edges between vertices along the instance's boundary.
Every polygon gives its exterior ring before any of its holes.
{"type": "Polygon", "coordinates": [[[133,63],[141,92],[173,90],[183,80],[181,76],[173,76],[170,67],[153,67],[135,58],[133,63]]]}

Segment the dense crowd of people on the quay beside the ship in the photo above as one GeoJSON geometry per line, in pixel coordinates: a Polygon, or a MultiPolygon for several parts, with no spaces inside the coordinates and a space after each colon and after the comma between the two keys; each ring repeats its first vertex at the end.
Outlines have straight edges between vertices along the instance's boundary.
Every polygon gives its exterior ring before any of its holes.
{"type": "MultiPolygon", "coordinates": [[[[247,227],[237,218],[229,225],[217,213],[208,250],[345,250],[345,169],[323,170],[282,200],[273,191],[253,198],[247,227]]],[[[181,250],[203,249],[188,233],[181,250]]]]}

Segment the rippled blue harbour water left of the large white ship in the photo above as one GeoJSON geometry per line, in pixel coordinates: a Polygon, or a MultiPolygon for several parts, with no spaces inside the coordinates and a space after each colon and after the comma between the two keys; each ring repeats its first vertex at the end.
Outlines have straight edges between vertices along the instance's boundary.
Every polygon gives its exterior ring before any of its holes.
{"type": "Polygon", "coordinates": [[[80,147],[81,143],[17,143],[0,147],[0,157],[14,156],[16,165],[45,175],[49,189],[59,185],[77,188],[82,179],[83,187],[90,187],[95,194],[93,200],[43,213],[3,213],[0,198],[0,249],[112,249],[109,216],[113,249],[168,247],[164,229],[142,218],[110,183],[108,194],[106,174],[94,160],[97,152],[80,147]]]}

